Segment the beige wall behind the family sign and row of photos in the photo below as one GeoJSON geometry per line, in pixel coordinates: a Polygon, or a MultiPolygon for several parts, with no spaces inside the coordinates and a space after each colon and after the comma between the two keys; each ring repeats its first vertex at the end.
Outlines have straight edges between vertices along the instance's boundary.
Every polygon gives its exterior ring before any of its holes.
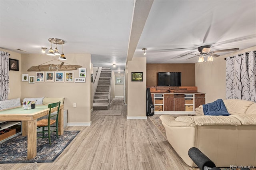
{"type": "MultiPolygon", "coordinates": [[[[81,65],[86,68],[86,83],[67,83],[67,82],[41,82],[29,84],[21,82],[21,99],[24,97],[65,97],[64,109],[68,109],[69,125],[90,125],[91,91],[90,54],[65,54],[67,60],[64,65],[81,65]],[[73,107],[73,103],[77,107],[73,107]]],[[[31,66],[60,64],[54,57],[42,54],[22,54],[21,74],[35,76],[34,71],[27,71],[31,66]],[[50,62],[48,62],[50,61],[50,62]],[[47,62],[47,63],[46,63],[47,62]]],[[[56,57],[57,58],[57,57],[56,57]]],[[[79,76],[78,70],[74,71],[74,78],[79,76]]],[[[21,80],[21,77],[20,77],[21,80]]]]}

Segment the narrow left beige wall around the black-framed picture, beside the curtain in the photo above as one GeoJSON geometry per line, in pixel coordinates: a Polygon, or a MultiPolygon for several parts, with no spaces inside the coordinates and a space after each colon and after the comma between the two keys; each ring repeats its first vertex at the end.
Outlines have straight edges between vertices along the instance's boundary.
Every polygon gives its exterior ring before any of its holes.
{"type": "Polygon", "coordinates": [[[15,53],[6,49],[0,48],[0,51],[8,52],[9,58],[18,59],[19,60],[19,71],[9,71],[9,89],[10,93],[8,93],[8,99],[15,99],[20,97],[20,85],[21,85],[21,54],[15,53]]]}

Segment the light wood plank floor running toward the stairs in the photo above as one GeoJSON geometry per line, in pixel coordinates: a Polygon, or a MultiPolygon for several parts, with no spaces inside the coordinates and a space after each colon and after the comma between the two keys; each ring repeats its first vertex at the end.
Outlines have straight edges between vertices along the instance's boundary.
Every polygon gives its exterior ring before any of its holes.
{"type": "MultiPolygon", "coordinates": [[[[91,126],[72,126],[81,130],[52,163],[38,163],[39,170],[198,170],[187,166],[153,123],[127,120],[126,106],[121,116],[95,116],[91,126]]],[[[0,164],[1,170],[17,170],[27,164],[0,164]]]]}

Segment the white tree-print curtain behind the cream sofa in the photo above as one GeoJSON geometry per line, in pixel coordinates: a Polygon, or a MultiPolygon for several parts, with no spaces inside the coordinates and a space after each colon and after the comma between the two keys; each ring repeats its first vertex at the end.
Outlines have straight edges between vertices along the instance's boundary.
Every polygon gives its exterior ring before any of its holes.
{"type": "Polygon", "coordinates": [[[226,61],[226,99],[256,102],[255,51],[228,57],[226,61]]]}

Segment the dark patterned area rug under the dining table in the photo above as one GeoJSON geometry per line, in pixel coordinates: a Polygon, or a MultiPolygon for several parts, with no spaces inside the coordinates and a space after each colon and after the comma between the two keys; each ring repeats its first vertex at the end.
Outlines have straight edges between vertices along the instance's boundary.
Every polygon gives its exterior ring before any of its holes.
{"type": "Polygon", "coordinates": [[[27,159],[27,136],[19,135],[11,138],[0,144],[0,164],[53,162],[79,132],[64,131],[64,134],[59,135],[58,139],[53,132],[51,134],[51,146],[48,138],[38,138],[37,154],[33,159],[27,159]]]}

